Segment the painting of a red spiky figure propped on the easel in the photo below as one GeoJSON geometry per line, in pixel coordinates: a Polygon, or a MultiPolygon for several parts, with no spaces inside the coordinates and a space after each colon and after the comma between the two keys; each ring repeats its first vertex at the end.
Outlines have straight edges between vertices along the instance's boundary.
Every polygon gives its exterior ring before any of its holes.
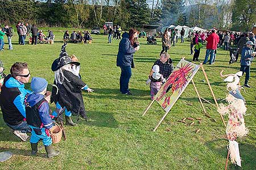
{"type": "Polygon", "coordinates": [[[155,100],[161,105],[164,111],[170,111],[199,68],[200,65],[195,65],[185,59],[180,60],[166,80],[166,83],[163,84],[158,94],[155,95],[155,100]]]}

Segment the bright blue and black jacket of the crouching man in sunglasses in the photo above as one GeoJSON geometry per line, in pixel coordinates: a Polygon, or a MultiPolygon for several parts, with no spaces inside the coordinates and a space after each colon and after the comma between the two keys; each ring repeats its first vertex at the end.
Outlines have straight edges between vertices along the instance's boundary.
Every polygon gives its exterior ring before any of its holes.
{"type": "Polygon", "coordinates": [[[24,88],[24,84],[13,78],[10,74],[3,80],[2,91],[0,95],[0,104],[3,113],[3,119],[10,125],[18,125],[26,117],[24,98],[30,94],[24,88]]]}

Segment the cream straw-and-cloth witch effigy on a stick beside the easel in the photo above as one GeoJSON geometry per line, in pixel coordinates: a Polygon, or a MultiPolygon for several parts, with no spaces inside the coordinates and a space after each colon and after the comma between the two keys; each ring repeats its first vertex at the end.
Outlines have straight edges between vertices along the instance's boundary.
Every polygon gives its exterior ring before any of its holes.
{"type": "Polygon", "coordinates": [[[225,115],[228,114],[229,120],[226,126],[226,137],[229,140],[228,150],[230,159],[233,164],[241,167],[241,158],[237,138],[245,137],[248,129],[245,127],[245,120],[243,116],[246,113],[245,99],[240,93],[241,87],[239,86],[240,76],[242,71],[236,74],[222,75],[224,70],[221,71],[221,76],[226,77],[225,82],[227,90],[229,91],[226,96],[228,105],[220,104],[218,112],[225,115]]]}

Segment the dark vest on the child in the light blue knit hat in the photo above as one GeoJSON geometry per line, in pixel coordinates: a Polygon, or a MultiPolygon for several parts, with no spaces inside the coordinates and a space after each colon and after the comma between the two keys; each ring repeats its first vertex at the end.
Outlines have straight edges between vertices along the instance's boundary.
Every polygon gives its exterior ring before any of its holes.
{"type": "Polygon", "coordinates": [[[38,108],[43,102],[47,102],[46,99],[43,98],[38,103],[36,103],[33,107],[26,106],[26,117],[27,117],[28,125],[34,126],[36,128],[40,128],[40,126],[42,125],[38,108]]]}

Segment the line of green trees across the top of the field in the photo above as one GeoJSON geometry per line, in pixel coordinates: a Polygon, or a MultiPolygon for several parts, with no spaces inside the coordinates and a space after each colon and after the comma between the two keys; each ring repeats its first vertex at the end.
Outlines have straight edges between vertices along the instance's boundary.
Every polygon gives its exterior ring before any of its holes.
{"type": "Polygon", "coordinates": [[[247,0],[0,0],[1,23],[40,27],[122,28],[170,24],[249,31],[256,24],[256,3],[247,0]]]}

